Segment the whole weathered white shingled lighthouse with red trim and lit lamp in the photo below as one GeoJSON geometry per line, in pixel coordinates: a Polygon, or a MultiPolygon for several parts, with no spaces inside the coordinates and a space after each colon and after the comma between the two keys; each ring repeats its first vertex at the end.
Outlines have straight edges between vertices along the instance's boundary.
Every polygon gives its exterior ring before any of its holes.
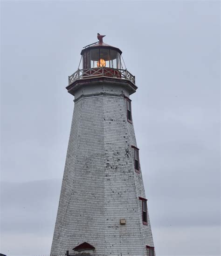
{"type": "Polygon", "coordinates": [[[135,76],[103,37],[83,48],[66,87],[74,111],[51,255],[155,256],[133,127],[135,76]]]}

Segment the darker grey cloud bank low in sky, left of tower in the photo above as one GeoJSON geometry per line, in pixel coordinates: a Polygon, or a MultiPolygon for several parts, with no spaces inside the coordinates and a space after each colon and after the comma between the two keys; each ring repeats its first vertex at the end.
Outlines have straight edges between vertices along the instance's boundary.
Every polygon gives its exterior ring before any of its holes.
{"type": "Polygon", "coordinates": [[[52,234],[60,189],[59,180],[2,182],[2,234],[52,234]]]}

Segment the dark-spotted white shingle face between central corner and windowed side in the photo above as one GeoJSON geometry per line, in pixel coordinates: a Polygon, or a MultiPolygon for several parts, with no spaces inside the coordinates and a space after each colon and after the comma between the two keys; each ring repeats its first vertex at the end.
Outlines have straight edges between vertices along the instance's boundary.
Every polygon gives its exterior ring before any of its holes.
{"type": "Polygon", "coordinates": [[[124,96],[104,97],[104,119],[105,254],[143,254],[124,96]]]}

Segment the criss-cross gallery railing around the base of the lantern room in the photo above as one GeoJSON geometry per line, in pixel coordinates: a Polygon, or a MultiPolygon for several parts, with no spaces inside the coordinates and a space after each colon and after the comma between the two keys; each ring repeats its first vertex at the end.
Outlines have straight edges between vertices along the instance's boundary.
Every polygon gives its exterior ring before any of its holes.
{"type": "Polygon", "coordinates": [[[85,79],[90,77],[113,77],[120,79],[130,80],[135,84],[135,76],[132,75],[126,69],[117,69],[110,67],[96,67],[96,68],[87,68],[87,69],[78,69],[75,73],[69,76],[69,84],[73,83],[78,79],[85,79]]]}

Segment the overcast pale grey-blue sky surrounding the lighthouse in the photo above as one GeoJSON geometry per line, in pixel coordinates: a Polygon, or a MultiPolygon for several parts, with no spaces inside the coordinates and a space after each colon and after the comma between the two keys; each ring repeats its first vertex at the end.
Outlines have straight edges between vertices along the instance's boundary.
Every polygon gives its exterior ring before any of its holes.
{"type": "Polygon", "coordinates": [[[220,255],[219,1],[1,1],[1,249],[49,254],[83,46],[119,47],[159,256],[220,255]]]}

